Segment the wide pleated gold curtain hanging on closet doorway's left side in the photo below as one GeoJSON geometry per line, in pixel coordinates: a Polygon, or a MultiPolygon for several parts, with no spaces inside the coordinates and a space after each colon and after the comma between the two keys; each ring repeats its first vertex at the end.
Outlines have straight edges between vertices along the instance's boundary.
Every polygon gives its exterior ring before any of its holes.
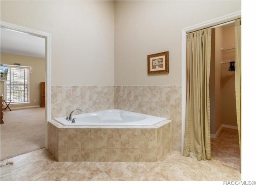
{"type": "Polygon", "coordinates": [[[210,58],[211,28],[187,35],[186,125],[184,156],[211,159],[210,143],[210,58]]]}

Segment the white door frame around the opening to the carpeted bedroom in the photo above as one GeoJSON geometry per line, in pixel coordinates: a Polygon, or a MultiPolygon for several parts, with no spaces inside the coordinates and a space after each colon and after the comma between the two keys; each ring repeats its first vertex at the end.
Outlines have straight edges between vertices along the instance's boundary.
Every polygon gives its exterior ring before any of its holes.
{"type": "Polygon", "coordinates": [[[48,149],[47,122],[51,120],[51,34],[41,32],[38,30],[33,30],[23,26],[18,26],[16,24],[11,24],[4,21],[1,21],[1,27],[45,38],[45,61],[46,61],[46,64],[45,64],[45,81],[46,81],[45,148],[48,149]]]}

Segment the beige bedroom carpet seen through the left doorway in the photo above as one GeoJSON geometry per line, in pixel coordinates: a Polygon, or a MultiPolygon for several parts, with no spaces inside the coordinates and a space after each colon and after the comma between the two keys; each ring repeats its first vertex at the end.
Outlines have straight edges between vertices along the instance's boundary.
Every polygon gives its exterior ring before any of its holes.
{"type": "Polygon", "coordinates": [[[45,147],[45,108],[4,111],[1,160],[45,147]]]}

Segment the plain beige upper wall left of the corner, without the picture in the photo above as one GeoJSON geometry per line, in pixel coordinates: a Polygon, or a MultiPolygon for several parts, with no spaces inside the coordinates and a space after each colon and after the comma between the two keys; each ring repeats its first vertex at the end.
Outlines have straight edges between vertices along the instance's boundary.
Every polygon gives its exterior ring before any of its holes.
{"type": "Polygon", "coordinates": [[[51,34],[52,85],[114,85],[114,2],[1,1],[1,21],[51,34]]]}

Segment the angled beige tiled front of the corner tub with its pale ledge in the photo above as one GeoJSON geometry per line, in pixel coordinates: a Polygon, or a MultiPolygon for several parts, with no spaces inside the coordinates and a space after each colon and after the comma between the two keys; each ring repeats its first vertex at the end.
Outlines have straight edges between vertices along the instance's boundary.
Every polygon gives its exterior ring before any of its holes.
{"type": "Polygon", "coordinates": [[[152,126],[63,126],[48,122],[57,161],[156,162],[172,148],[172,121],[152,126]]]}

